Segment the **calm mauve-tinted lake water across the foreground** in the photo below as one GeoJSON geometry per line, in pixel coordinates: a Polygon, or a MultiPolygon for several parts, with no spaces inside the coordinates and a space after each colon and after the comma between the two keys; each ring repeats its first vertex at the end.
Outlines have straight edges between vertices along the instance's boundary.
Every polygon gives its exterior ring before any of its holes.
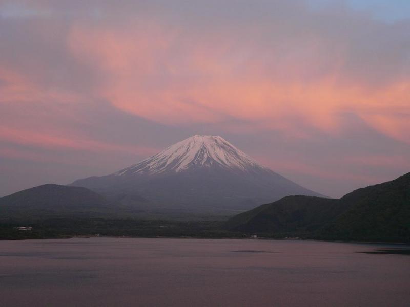
{"type": "MultiPolygon", "coordinates": [[[[408,306],[391,245],[261,239],[0,241],[0,306],[408,306]]],[[[404,246],[394,246],[404,248],[404,246]]]]}

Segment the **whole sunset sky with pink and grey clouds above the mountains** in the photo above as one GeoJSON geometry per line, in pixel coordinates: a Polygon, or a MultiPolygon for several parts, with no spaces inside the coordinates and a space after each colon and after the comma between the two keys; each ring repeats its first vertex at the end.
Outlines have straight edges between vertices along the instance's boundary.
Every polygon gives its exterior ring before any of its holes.
{"type": "Polygon", "coordinates": [[[331,197],[410,171],[410,1],[0,0],[0,196],[220,135],[331,197]]]}

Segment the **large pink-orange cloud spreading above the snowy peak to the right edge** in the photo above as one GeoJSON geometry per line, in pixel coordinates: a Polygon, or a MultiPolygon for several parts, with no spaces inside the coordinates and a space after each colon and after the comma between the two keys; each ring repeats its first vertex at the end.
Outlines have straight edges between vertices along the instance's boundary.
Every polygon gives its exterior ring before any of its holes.
{"type": "Polygon", "coordinates": [[[235,118],[291,135],[303,123],[332,134],[343,127],[339,114],[350,112],[381,133],[410,142],[403,132],[410,121],[401,115],[410,114],[410,80],[376,87],[349,77],[341,51],[335,63],[304,82],[301,76],[330,52],[318,34],[294,42],[306,52],[284,57],[275,46],[261,50],[255,41],[213,34],[193,37],[152,21],[108,29],[76,25],[68,45],[101,72],[97,97],[149,120],[189,124],[235,118]]]}

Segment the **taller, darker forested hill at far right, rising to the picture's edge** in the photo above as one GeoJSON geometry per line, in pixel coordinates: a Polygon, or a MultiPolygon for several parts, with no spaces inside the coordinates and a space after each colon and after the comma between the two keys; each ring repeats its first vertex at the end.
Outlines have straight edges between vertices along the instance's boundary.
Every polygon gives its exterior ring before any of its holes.
{"type": "Polygon", "coordinates": [[[323,235],[358,240],[410,240],[410,173],[344,195],[347,210],[323,235]]]}

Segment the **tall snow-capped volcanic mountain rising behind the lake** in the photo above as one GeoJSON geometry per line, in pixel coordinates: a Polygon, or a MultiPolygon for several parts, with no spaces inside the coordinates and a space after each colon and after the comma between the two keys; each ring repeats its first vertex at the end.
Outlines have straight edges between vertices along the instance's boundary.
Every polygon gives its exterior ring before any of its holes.
{"type": "Polygon", "coordinates": [[[322,196],[262,166],[220,136],[195,135],[81,186],[141,210],[229,214],[288,195],[322,196]]]}

